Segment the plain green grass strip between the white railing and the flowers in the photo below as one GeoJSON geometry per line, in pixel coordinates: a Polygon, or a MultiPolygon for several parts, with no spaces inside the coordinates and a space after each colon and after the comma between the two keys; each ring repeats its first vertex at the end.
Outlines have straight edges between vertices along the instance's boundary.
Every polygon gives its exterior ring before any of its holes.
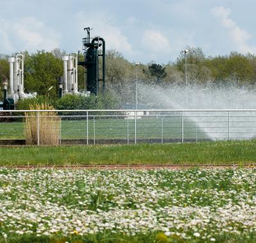
{"type": "Polygon", "coordinates": [[[0,147],[4,165],[244,164],[256,162],[256,141],[0,147]]]}

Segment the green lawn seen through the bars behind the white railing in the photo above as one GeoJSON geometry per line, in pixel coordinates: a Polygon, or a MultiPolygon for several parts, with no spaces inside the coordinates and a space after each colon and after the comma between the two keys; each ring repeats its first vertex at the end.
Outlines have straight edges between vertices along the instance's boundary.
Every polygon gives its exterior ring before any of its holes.
{"type": "MultiPolygon", "coordinates": [[[[84,120],[63,120],[61,121],[61,139],[86,139],[87,123],[84,120]]],[[[93,119],[88,121],[88,137],[93,139],[134,139],[135,123],[132,119],[93,119]]],[[[181,139],[182,123],[181,118],[143,118],[136,121],[136,132],[138,139],[163,138],[181,139]]],[[[225,134],[227,136],[227,134],[225,134]]],[[[196,127],[193,121],[185,121],[184,137],[205,139],[207,134],[196,127]]],[[[1,122],[1,139],[25,139],[24,123],[1,122]]]]}

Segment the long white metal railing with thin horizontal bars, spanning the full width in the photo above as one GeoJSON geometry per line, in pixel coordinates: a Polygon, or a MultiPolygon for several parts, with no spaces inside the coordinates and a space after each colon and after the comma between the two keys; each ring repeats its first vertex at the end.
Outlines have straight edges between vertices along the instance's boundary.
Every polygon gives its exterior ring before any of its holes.
{"type": "Polygon", "coordinates": [[[255,136],[256,109],[0,113],[0,145],[184,143],[253,139],[255,136]],[[49,117],[49,113],[54,114],[49,117]]]}

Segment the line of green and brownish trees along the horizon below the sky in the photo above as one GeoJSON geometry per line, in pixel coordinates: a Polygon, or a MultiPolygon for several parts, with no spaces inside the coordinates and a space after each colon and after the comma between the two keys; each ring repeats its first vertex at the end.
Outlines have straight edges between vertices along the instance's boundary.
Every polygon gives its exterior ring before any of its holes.
{"type": "MultiPolygon", "coordinates": [[[[188,47],[187,77],[189,84],[236,84],[253,85],[256,82],[256,56],[231,52],[226,56],[205,56],[199,47],[188,47]]],[[[57,96],[58,76],[63,75],[61,57],[67,54],[60,49],[35,53],[23,52],[24,84],[26,93],[36,91],[38,95],[57,96]],[[48,89],[53,86],[51,92],[48,89]]],[[[15,54],[13,54],[14,56],[15,54]]],[[[83,56],[81,56],[83,58],[83,56]]],[[[101,61],[101,59],[100,59],[101,61]]],[[[99,64],[99,67],[102,66],[99,64]]],[[[84,69],[78,67],[79,90],[84,89],[84,69]]],[[[121,93],[124,84],[134,84],[136,74],[141,82],[156,85],[176,83],[185,85],[185,54],[167,64],[151,61],[137,67],[116,50],[106,52],[106,87],[121,93]],[[136,70],[137,68],[137,70],[136,70]],[[136,72],[137,71],[137,72],[136,72]]],[[[9,78],[8,56],[0,54],[0,79],[9,78]]],[[[1,92],[2,93],[2,92],[1,92]]]]}

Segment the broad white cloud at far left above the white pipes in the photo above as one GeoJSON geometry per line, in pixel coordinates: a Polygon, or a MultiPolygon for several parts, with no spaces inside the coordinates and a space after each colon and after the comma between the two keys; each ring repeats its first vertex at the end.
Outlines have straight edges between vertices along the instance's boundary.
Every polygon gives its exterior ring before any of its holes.
{"type": "Polygon", "coordinates": [[[60,35],[35,17],[0,21],[0,52],[51,51],[59,47],[60,35]]]}

